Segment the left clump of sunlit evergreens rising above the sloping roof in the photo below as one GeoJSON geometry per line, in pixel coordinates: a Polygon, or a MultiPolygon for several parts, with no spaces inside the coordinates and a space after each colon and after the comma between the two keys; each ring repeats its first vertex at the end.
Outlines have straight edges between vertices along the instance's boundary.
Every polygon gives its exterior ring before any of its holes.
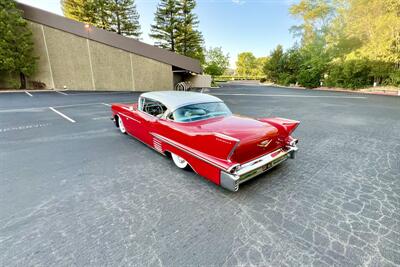
{"type": "Polygon", "coordinates": [[[134,0],[61,0],[64,15],[125,36],[140,37],[134,0]]]}

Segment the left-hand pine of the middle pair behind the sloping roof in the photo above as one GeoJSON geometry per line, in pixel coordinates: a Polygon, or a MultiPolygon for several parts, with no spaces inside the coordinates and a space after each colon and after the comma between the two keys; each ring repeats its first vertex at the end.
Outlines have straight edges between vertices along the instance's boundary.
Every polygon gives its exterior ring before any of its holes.
{"type": "Polygon", "coordinates": [[[161,0],[151,25],[150,37],[155,45],[175,52],[179,23],[179,3],[177,0],[161,0]]]}

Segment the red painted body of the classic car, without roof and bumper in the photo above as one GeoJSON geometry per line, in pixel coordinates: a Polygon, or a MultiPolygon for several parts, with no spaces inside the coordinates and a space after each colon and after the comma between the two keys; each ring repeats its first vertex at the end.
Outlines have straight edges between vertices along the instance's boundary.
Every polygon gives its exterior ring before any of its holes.
{"type": "Polygon", "coordinates": [[[149,115],[137,104],[113,104],[111,110],[130,135],[164,155],[184,158],[196,173],[218,185],[221,172],[232,173],[235,166],[286,151],[295,140],[290,134],[299,124],[237,115],[180,123],[149,115]]]}

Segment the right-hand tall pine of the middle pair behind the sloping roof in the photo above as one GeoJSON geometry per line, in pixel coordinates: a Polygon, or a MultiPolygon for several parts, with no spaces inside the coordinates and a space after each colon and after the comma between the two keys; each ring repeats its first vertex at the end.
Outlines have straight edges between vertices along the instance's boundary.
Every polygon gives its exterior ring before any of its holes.
{"type": "Polygon", "coordinates": [[[178,2],[179,23],[177,25],[176,50],[179,54],[197,58],[204,62],[203,36],[197,30],[199,20],[193,13],[195,0],[180,0],[178,2]]]}

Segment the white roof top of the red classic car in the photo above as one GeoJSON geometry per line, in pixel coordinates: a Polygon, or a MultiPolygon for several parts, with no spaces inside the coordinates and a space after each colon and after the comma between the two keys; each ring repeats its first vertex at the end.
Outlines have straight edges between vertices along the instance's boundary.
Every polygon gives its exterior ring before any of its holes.
{"type": "Polygon", "coordinates": [[[223,102],[218,97],[195,92],[185,91],[157,91],[143,93],[140,97],[150,98],[164,104],[170,111],[175,111],[177,108],[198,104],[198,103],[210,103],[210,102],[223,102]]]}

